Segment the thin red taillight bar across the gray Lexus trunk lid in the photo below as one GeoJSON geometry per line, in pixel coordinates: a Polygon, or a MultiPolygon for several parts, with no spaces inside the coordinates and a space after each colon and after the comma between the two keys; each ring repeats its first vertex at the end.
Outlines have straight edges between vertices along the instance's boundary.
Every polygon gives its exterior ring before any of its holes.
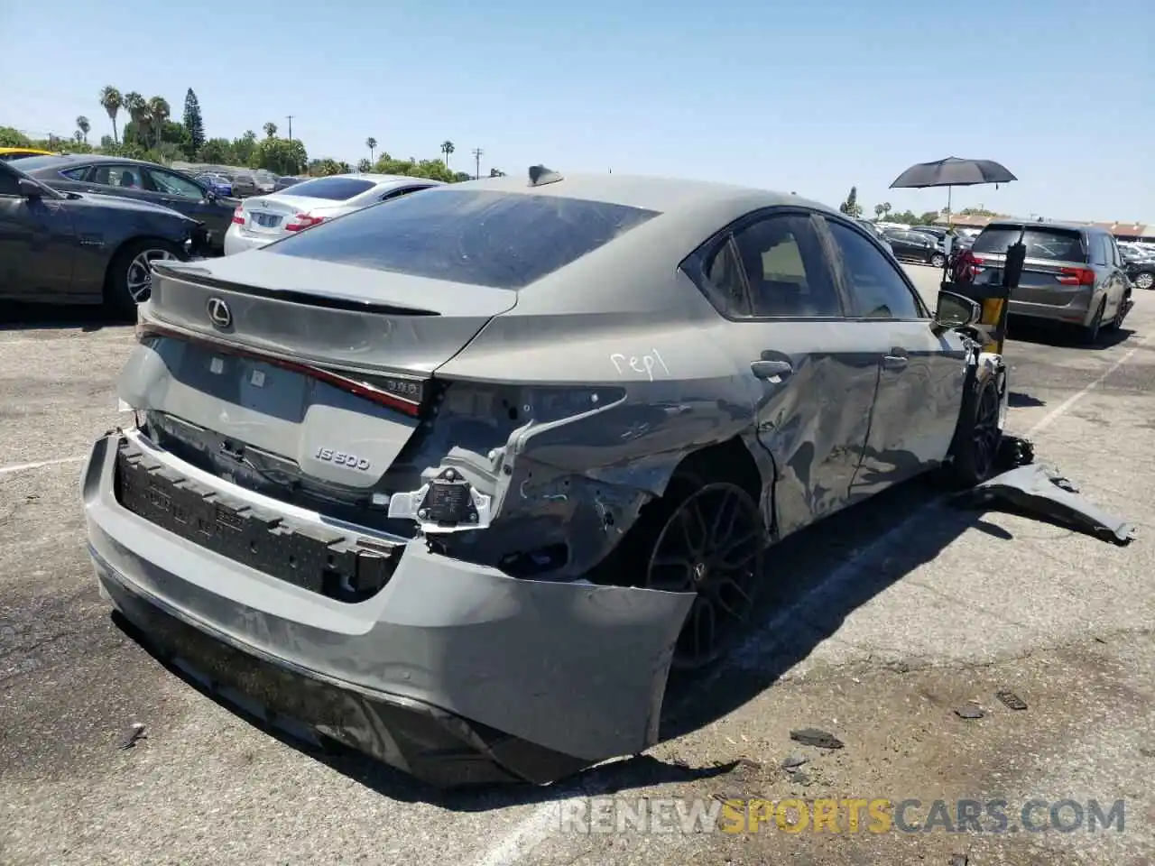
{"type": "Polygon", "coordinates": [[[264,361],[266,364],[273,364],[277,367],[282,367],[283,369],[311,376],[325,382],[326,385],[330,385],[334,388],[348,391],[349,394],[353,394],[372,403],[377,403],[378,405],[386,406],[387,409],[394,409],[411,418],[420,416],[425,404],[424,396],[429,393],[427,385],[431,381],[430,378],[426,376],[415,376],[412,373],[394,373],[392,371],[385,372],[375,369],[366,371],[360,374],[366,376],[388,376],[392,379],[410,380],[426,386],[426,388],[423,389],[425,393],[423,394],[422,400],[408,400],[398,394],[383,390],[371,382],[364,382],[351,378],[349,373],[358,375],[358,373],[353,373],[352,371],[330,369],[327,366],[322,366],[319,361],[301,358],[288,358],[277,352],[248,346],[244,343],[219,339],[208,334],[201,334],[199,331],[188,330],[187,328],[169,324],[158,318],[147,318],[143,311],[141,311],[136,320],[136,341],[143,342],[149,337],[169,337],[171,339],[179,339],[186,343],[196,343],[208,346],[214,351],[221,352],[222,354],[231,354],[240,358],[264,361]]]}

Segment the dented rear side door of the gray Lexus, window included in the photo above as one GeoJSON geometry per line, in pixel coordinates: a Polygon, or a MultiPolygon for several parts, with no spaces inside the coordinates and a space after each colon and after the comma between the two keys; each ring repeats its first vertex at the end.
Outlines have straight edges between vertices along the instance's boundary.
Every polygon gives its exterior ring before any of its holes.
{"type": "Polygon", "coordinates": [[[751,382],[758,439],[774,458],[781,535],[842,508],[866,443],[878,359],[855,342],[819,237],[802,209],[751,215],[701,257],[707,297],[751,382]]]}

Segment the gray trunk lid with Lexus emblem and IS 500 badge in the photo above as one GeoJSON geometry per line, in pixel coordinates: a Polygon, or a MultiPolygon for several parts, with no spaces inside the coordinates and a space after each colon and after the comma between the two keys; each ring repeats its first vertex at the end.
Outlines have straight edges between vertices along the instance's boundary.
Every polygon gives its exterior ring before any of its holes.
{"type": "Polygon", "coordinates": [[[158,445],[207,471],[364,507],[417,430],[433,371],[515,303],[260,252],[158,266],[119,393],[158,445]]]}

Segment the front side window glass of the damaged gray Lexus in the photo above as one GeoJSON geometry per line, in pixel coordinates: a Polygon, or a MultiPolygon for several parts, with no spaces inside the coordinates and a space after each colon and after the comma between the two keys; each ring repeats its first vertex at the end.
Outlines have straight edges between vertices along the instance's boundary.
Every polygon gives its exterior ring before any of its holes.
{"type": "Polygon", "coordinates": [[[922,304],[889,256],[854,229],[827,221],[836,267],[864,319],[925,319],[922,304]]]}

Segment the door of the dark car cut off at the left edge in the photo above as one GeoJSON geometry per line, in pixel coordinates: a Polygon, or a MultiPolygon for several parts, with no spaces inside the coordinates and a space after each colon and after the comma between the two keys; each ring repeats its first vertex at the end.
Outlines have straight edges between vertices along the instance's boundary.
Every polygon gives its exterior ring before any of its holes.
{"type": "Polygon", "coordinates": [[[76,233],[68,201],[45,189],[20,194],[20,176],[0,165],[0,297],[67,300],[73,292],[76,233]]]}

